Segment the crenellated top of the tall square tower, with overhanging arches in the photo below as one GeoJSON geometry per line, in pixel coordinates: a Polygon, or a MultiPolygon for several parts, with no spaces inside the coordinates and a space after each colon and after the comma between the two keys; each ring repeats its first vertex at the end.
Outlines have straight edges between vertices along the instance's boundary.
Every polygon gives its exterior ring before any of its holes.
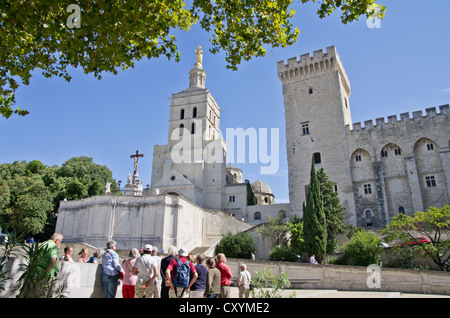
{"type": "Polygon", "coordinates": [[[350,95],[350,81],[334,46],[327,47],[326,52],[314,51],[312,56],[310,53],[305,53],[300,55],[300,59],[293,57],[287,62],[279,61],[277,69],[278,77],[283,84],[338,71],[347,94],[350,95]]]}

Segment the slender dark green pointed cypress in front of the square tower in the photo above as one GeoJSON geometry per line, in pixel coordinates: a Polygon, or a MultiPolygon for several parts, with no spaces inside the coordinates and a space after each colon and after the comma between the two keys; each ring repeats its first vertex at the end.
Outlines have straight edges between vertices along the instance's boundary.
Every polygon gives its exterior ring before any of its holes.
{"type": "Polygon", "coordinates": [[[322,263],[325,259],[327,247],[327,222],[314,159],[311,163],[311,176],[306,205],[303,208],[303,235],[305,250],[308,255],[315,255],[316,260],[322,263]]]}

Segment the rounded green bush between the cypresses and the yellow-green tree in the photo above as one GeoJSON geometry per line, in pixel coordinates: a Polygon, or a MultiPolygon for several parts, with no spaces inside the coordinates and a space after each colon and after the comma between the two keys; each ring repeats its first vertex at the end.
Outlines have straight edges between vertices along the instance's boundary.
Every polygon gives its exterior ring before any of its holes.
{"type": "Polygon", "coordinates": [[[383,252],[381,241],[375,233],[367,232],[360,228],[350,241],[342,246],[343,258],[358,266],[379,264],[383,252]]]}

